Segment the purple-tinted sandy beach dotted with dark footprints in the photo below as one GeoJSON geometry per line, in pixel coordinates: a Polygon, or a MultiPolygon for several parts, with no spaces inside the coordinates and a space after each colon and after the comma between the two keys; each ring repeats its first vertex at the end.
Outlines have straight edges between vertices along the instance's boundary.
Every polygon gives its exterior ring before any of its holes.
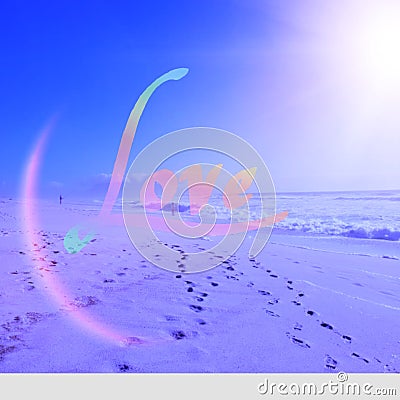
{"type": "Polygon", "coordinates": [[[0,372],[400,371],[398,260],[272,236],[255,259],[246,238],[216,268],[168,272],[124,226],[67,253],[66,231],[96,207],[37,202],[32,224],[23,206],[0,208],[0,372]]]}

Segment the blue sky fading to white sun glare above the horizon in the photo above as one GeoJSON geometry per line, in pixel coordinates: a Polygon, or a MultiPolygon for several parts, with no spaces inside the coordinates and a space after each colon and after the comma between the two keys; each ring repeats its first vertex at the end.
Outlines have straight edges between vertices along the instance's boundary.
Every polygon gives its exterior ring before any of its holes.
{"type": "MultiPolygon", "coordinates": [[[[399,188],[398,72],[388,68],[397,59],[372,70],[358,52],[363,32],[374,37],[374,8],[386,3],[331,3],[2,4],[0,195],[18,194],[35,140],[55,114],[41,190],[101,186],[138,96],[178,67],[190,72],[154,93],[130,161],[161,135],[211,126],[259,150],[278,191],[399,188]]],[[[397,12],[391,3],[388,15],[397,12]]]]}

